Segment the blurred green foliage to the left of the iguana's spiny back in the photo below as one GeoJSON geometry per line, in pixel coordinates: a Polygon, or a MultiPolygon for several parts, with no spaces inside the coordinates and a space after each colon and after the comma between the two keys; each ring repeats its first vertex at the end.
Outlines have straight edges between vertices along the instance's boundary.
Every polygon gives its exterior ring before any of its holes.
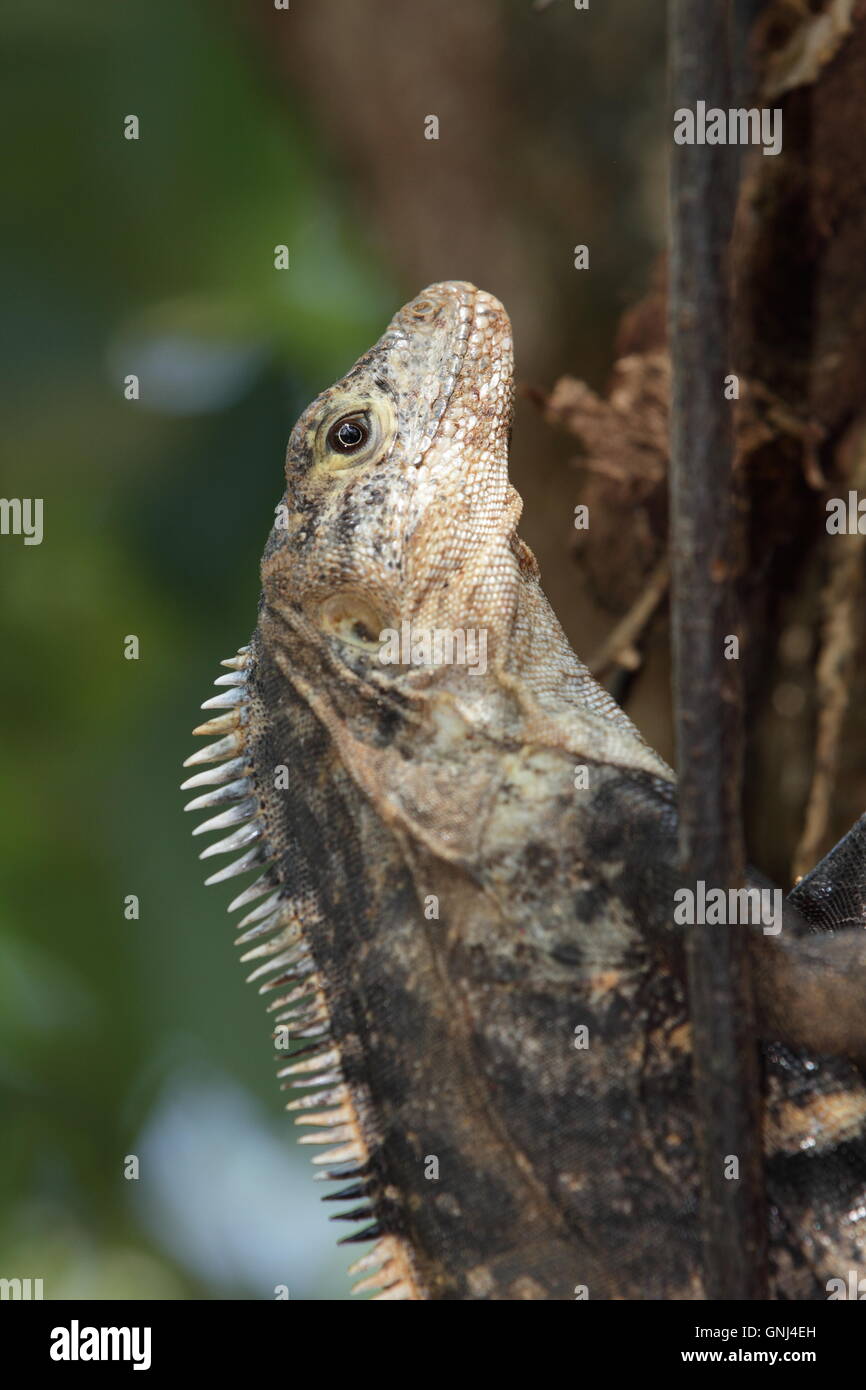
{"type": "Polygon", "coordinates": [[[44,499],[44,539],[1,549],[0,1275],[43,1277],[46,1297],[349,1287],[177,788],[217,662],[254,621],[288,431],[395,291],[311,132],[214,11],[19,0],[3,18],[3,495],[44,499]],[[274,270],[277,243],[303,275],[274,270]],[[165,379],[153,399],[146,364],[165,377],[165,359],[200,382],[179,404],[165,379]],[[124,919],[132,892],[139,922],[124,919]],[[213,1125],[182,1151],[167,1138],[160,1162],[200,1194],[199,1223],[209,1201],[218,1223],[227,1183],[240,1226],[245,1191],[268,1198],[249,1241],[272,1222],[292,1268],[254,1250],[196,1258],[182,1220],[165,1237],[145,1155],[179,1079],[177,1104],[210,1098],[213,1125]],[[238,1162],[270,1155],[267,1182],[232,1172],[245,1126],[238,1162]]]}

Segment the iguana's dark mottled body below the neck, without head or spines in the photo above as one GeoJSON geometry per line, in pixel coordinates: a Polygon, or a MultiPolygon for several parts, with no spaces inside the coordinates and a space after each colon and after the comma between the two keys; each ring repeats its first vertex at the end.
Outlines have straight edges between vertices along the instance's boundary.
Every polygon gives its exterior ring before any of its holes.
{"type": "MultiPolygon", "coordinates": [[[[253,656],[257,794],[279,881],[317,902],[306,937],[366,1131],[368,1162],[346,1180],[409,1243],[432,1298],[701,1297],[683,956],[663,906],[678,883],[670,785],[589,764],[581,801],[560,758],[513,877],[495,852],[456,870],[382,823],[285,663],[257,641],[253,656]],[[272,788],[279,764],[289,790],[272,788]]],[[[360,724],[423,756],[393,701],[360,724]]],[[[498,799],[513,816],[507,784],[498,799]]],[[[766,1065],[787,1091],[803,1077],[778,1045],[766,1065]]],[[[812,1090],[822,1073],[851,1080],[845,1063],[810,1062],[812,1090]]],[[[792,1233],[806,1216],[838,1223],[865,1169],[862,1138],[769,1163],[776,1297],[826,1297],[792,1233]]],[[[844,1237],[840,1250],[862,1258],[844,1237]]]]}

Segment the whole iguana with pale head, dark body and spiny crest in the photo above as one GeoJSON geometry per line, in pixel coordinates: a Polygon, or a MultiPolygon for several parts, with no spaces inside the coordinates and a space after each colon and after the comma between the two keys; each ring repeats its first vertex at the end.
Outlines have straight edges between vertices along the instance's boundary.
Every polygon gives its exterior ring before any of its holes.
{"type": "MultiPolygon", "coordinates": [[[[207,883],[260,870],[231,909],[359,1289],[701,1298],[674,774],[545,599],[512,409],[506,311],[445,282],[303,413],[188,809],[240,852],[207,883]]],[[[795,890],[813,930],[866,922],[865,847],[795,890]]],[[[783,1041],[765,1076],[773,1297],[824,1298],[866,1272],[866,1087],[783,1041]]]]}

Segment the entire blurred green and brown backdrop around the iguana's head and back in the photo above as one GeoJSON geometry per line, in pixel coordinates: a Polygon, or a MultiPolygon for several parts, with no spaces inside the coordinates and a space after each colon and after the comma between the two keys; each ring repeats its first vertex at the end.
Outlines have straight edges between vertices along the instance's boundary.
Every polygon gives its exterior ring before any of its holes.
{"type": "MultiPolygon", "coordinates": [[[[44,538],[0,538],[1,1277],[349,1295],[179,764],[254,623],[293,420],[402,302],[474,279],[521,385],[603,381],[662,240],[662,10],[4,6],[1,491],[44,538]]],[[[585,651],[570,452],[521,404],[523,534],[585,651]]]]}

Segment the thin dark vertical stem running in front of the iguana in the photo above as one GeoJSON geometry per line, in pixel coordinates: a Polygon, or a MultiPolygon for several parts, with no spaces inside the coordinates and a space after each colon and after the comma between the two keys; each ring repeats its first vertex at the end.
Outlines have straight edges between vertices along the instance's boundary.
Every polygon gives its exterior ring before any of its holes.
{"type": "MultiPolygon", "coordinates": [[[[730,101],[727,0],[670,0],[671,111],[730,101]]],[[[673,143],[673,138],[671,138],[673,143]]],[[[671,573],[674,698],[684,883],[737,887],[742,709],[737,507],[728,360],[728,243],[735,147],[673,145],[670,181],[673,356],[671,573]]],[[[709,1298],[766,1298],[760,1091],[746,934],[688,929],[689,1012],[709,1298]],[[731,1179],[731,1161],[738,1177],[731,1179]]]]}

